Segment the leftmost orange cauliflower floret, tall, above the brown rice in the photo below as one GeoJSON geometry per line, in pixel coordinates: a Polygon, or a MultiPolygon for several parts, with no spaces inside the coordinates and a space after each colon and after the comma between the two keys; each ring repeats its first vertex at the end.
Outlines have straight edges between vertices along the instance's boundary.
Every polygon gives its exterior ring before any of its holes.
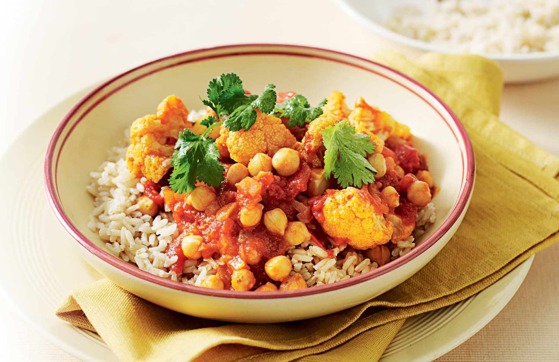
{"type": "Polygon", "coordinates": [[[188,110],[177,96],[168,96],[157,107],[157,115],[141,117],[130,126],[130,146],[126,152],[128,170],[159,182],[171,167],[170,157],[178,134],[191,128],[188,110]]]}

